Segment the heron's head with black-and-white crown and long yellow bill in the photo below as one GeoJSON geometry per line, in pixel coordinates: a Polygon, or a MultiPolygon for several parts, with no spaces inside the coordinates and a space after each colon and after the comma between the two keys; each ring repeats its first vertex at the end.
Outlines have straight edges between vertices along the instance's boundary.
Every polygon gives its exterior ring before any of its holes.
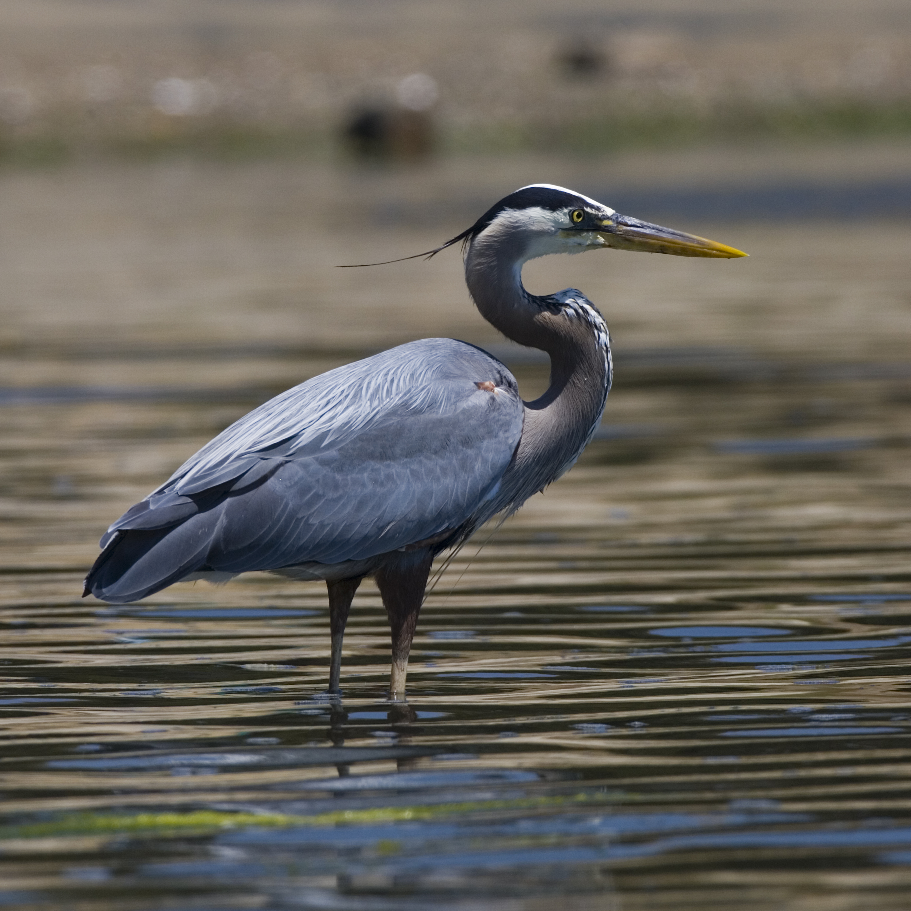
{"type": "Polygon", "coordinates": [[[549,183],[510,193],[446,246],[455,241],[494,241],[511,248],[520,261],[606,248],[723,259],[747,255],[695,234],[620,215],[588,196],[549,183]]]}

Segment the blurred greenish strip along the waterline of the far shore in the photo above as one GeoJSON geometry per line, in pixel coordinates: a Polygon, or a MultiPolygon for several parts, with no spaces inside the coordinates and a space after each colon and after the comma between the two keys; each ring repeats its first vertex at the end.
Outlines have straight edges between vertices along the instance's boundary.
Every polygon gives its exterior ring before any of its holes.
{"type": "MultiPolygon", "coordinates": [[[[3,98],[0,97],[0,104],[3,98]]],[[[228,118],[157,118],[152,124],[115,125],[87,131],[56,118],[29,125],[0,118],[0,167],[54,167],[72,161],[157,160],[192,157],[213,161],[302,159],[352,160],[338,122],[289,127],[228,118]]],[[[845,142],[903,144],[911,150],[911,98],[876,102],[844,98],[825,103],[757,104],[732,100],[701,110],[687,103],[643,105],[632,113],[606,112],[578,118],[504,121],[483,126],[444,124],[436,131],[435,155],[475,157],[559,154],[591,157],[666,149],[731,149],[755,146],[783,151],[845,142]]]]}

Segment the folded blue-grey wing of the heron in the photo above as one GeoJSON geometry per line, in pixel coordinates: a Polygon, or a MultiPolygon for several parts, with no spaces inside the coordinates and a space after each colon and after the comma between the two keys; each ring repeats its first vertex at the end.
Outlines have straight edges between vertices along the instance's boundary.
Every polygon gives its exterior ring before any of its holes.
{"type": "Polygon", "coordinates": [[[242,417],[118,519],[102,547],[118,531],[170,528],[155,548],[184,573],[371,558],[483,511],[523,411],[512,375],[480,349],[402,345],[242,417]]]}

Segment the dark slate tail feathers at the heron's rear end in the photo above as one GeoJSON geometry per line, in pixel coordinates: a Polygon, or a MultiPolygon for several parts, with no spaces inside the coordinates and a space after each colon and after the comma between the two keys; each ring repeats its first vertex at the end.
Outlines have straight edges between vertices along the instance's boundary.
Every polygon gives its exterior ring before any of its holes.
{"type": "Polygon", "coordinates": [[[205,548],[199,537],[192,547],[187,531],[186,526],[118,531],[88,570],[82,597],[138,601],[200,569],[205,548]]]}

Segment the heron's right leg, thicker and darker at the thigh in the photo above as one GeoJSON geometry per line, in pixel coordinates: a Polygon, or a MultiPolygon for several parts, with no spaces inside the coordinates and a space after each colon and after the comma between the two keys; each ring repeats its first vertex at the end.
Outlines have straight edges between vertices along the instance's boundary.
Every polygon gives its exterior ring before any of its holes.
{"type": "Polygon", "coordinates": [[[389,698],[393,701],[404,699],[408,653],[411,651],[411,640],[415,638],[417,615],[421,611],[433,562],[430,548],[396,551],[376,571],[376,587],[383,596],[383,606],[393,633],[393,666],[389,677],[389,698]]]}

